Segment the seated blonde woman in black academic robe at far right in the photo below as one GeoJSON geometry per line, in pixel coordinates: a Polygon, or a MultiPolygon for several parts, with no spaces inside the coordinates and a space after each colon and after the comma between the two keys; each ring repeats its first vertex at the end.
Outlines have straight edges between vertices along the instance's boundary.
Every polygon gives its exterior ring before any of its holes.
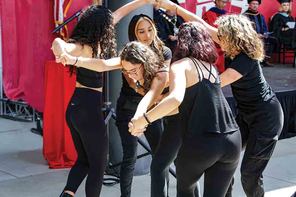
{"type": "Polygon", "coordinates": [[[287,22],[295,22],[291,16],[291,0],[278,0],[281,3],[279,12],[271,19],[269,31],[274,32],[272,36],[278,39],[279,45],[284,44],[287,49],[296,48],[296,42],[293,39],[293,27],[289,27],[287,22]]]}

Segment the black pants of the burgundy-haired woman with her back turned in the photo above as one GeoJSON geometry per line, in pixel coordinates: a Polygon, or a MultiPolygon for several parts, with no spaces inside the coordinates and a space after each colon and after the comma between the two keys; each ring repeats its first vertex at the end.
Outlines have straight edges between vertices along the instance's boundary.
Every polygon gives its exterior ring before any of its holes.
{"type": "Polygon", "coordinates": [[[204,197],[224,197],[239,164],[239,131],[205,133],[184,141],[177,156],[177,197],[194,197],[205,173],[204,197]]]}

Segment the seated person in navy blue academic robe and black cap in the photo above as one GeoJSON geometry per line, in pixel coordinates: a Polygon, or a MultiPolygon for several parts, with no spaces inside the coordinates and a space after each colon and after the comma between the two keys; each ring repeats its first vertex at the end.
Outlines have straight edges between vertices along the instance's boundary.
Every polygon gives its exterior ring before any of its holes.
{"type": "Polygon", "coordinates": [[[273,52],[277,49],[277,39],[269,35],[266,20],[262,14],[257,12],[261,0],[248,0],[249,9],[244,13],[251,21],[255,23],[255,30],[265,43],[266,58],[261,66],[273,66],[268,62],[273,52]]]}

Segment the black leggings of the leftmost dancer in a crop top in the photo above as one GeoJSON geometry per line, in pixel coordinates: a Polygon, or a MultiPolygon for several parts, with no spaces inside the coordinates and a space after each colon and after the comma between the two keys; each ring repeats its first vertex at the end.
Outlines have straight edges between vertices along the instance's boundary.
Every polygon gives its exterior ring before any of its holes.
{"type": "Polygon", "coordinates": [[[66,111],[66,122],[78,157],[70,170],[65,189],[75,193],[88,174],[86,197],[100,196],[107,167],[108,136],[101,103],[102,92],[75,88],[66,111]]]}

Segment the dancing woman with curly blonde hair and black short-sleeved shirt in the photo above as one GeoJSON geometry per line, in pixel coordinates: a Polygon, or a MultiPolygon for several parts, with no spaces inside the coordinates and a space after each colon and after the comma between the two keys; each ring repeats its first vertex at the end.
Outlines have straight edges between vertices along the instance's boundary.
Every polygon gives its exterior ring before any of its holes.
{"type": "MultiPolygon", "coordinates": [[[[260,61],[264,58],[263,43],[254,24],[245,16],[223,15],[208,25],[195,14],[168,0],[157,0],[165,9],[176,10],[186,21],[205,25],[212,39],[221,45],[230,66],[220,75],[221,86],[231,84],[239,110],[236,121],[245,149],[241,166],[242,186],[247,197],[264,196],[263,171],[274,151],[283,127],[284,115],[274,91],[266,82],[260,61]]],[[[231,196],[231,188],[227,196],[231,196]]]]}

